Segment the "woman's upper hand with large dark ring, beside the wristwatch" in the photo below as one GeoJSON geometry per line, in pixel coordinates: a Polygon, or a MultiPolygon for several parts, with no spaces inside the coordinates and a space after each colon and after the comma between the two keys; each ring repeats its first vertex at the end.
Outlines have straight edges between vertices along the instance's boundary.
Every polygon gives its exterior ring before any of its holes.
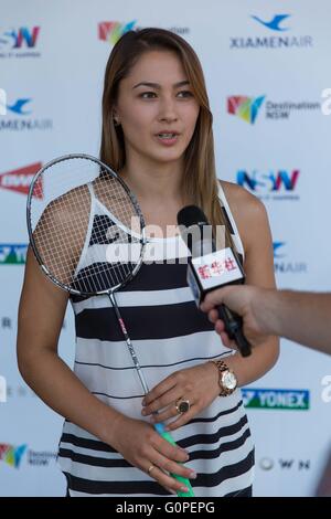
{"type": "Polygon", "coordinates": [[[145,396],[141,414],[149,416],[158,411],[159,414],[151,416],[152,423],[177,417],[167,425],[168,431],[174,431],[190,422],[218,396],[218,370],[213,362],[175,371],[145,396]],[[181,401],[189,401],[189,411],[179,411],[177,406],[181,401]]]}

